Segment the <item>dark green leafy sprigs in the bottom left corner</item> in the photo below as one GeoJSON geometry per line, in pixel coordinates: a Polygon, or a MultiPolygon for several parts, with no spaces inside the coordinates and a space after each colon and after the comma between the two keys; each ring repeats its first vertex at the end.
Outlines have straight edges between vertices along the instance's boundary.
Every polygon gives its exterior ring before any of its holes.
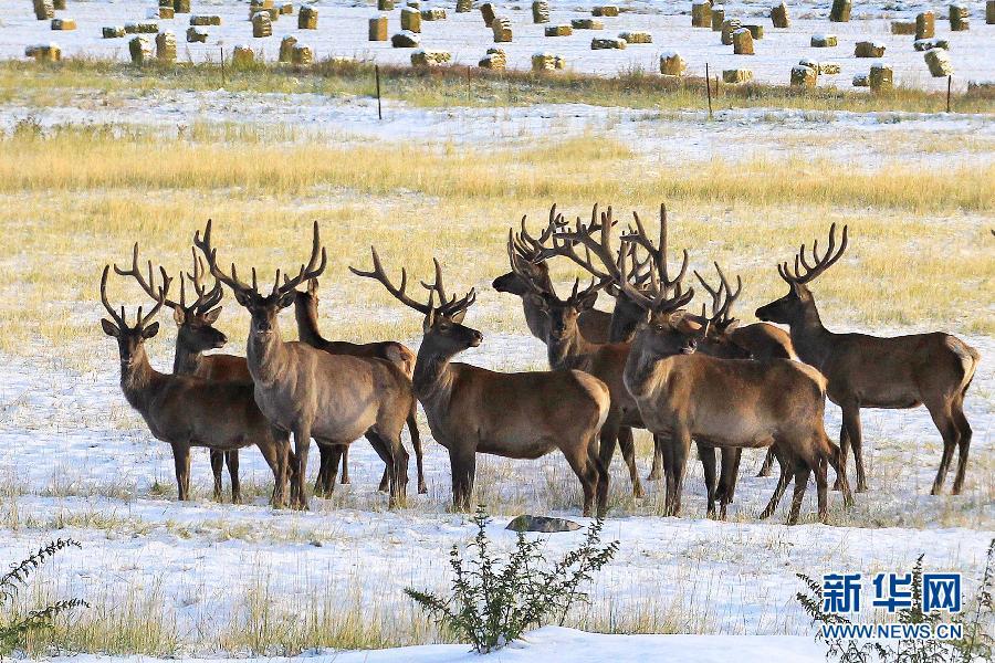
{"type": "MultiPolygon", "coordinates": [[[[0,608],[17,598],[18,592],[28,583],[28,577],[32,571],[49,561],[60,550],[69,547],[78,548],[80,544],[73,539],[55,539],[0,576],[0,608]]],[[[69,599],[40,610],[32,610],[24,615],[15,615],[10,622],[0,621],[0,655],[10,653],[14,648],[23,646],[24,639],[32,631],[49,629],[56,617],[81,607],[88,608],[90,606],[82,599],[69,599]]]]}

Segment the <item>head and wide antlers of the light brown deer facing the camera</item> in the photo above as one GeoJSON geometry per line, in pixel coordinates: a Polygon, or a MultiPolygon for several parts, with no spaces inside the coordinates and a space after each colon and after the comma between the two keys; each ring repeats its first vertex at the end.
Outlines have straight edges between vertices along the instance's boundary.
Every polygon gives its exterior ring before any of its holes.
{"type": "Polygon", "coordinates": [[[208,220],[203,230],[203,239],[200,238],[200,231],[193,236],[193,245],[203,253],[208,266],[214,278],[232,290],[235,302],[243,306],[249,315],[252,316],[250,332],[253,336],[265,337],[272,334],[276,328],[276,317],[281,311],[294,303],[295,288],[311,278],[316,278],[325,271],[328,263],[327,252],[321,245],[318,235],[317,221],[314,222],[313,240],[311,245],[311,257],[306,265],[301,265],[301,270],[293,278],[283,276],[283,283],[280,282],[280,270],[276,270],[276,278],[273,288],[269,295],[263,295],[259,290],[259,282],[255,276],[255,269],[252,269],[252,285],[239,280],[238,271],[234,263],[231,265],[231,272],[224,273],[218,266],[218,250],[211,246],[211,221],[208,220]]]}

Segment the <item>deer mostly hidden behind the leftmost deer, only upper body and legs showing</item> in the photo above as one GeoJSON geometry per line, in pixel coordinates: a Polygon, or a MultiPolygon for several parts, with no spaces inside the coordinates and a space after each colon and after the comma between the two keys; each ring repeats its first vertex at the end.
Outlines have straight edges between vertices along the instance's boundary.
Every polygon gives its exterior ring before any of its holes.
{"type": "MultiPolygon", "coordinates": [[[[196,249],[193,254],[193,273],[187,273],[187,278],[193,288],[197,298],[190,305],[186,301],[186,285],[184,273],[180,272],[180,298],[179,302],[165,299],[166,307],[172,311],[172,319],[177,326],[176,350],[172,358],[172,372],[176,375],[197,376],[216,382],[237,382],[251,385],[252,376],[249,375],[249,364],[244,357],[235,355],[205,355],[205,350],[222,348],[228,343],[228,337],[214,328],[221,307],[217,306],[224,292],[217,281],[209,291],[203,283],[203,261],[198,259],[196,249]]],[[[160,270],[163,267],[159,267],[160,270]]],[[[153,266],[148,262],[148,280],[142,275],[138,267],[138,242],[132,250],[132,267],[123,270],[116,264],[114,272],[119,276],[132,276],[145,291],[145,294],[156,298],[156,293],[150,285],[153,266]]],[[[164,272],[165,274],[165,272],[164,272]]],[[[241,504],[241,483],[239,481],[239,452],[238,450],[221,452],[211,449],[211,473],[214,476],[214,499],[222,501],[221,471],[228,465],[228,474],[231,478],[231,502],[241,504]]]]}

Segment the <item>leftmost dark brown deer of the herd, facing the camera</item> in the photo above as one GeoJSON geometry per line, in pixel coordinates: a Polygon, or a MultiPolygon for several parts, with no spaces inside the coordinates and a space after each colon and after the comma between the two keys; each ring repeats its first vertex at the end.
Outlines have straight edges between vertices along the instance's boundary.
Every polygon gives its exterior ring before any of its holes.
{"type": "Polygon", "coordinates": [[[191,446],[228,452],[254,444],[273,471],[272,504],[276,508],[283,507],[290,441],[256,407],[253,387],[155,370],[149,364],[145,341],[159,332],[159,323],[151,320],[166,302],[170,280],[164,271],[163,285],[156,290],[149,271],[149,286],[157,293],[155,305],[146,315],[139,306],[135,325],[128,325],[124,306],[118,314],[107,299],[109,272],[111,265],[105,265],[101,276],[101,302],[111,318],[102,318],[101,326],[107,336],[117,339],[121,388],[125,399],[142,414],[153,435],[172,446],[179,499],[190,498],[191,446]]]}

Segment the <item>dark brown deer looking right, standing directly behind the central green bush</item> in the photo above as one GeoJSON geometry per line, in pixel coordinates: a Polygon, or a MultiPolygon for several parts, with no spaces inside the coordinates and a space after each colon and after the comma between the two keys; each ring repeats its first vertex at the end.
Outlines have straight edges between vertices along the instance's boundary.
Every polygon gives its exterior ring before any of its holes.
{"type": "Polygon", "coordinates": [[[422,285],[428,299],[407,294],[407,271],[395,285],[376,248],[373,267],[349,270],[379,282],[396,299],[420,313],[423,337],[415,362],[415,394],[421,402],[436,441],[449,451],[453,507],[468,511],[476,474],[476,454],[537,459],[554,450],[566,456],[584,491],[583,513],[607,511],[608,473],[598,460],[598,434],[611,404],[608,387],[579,370],[495,372],[452,361],[478,347],[483,335],[463,325],[476,299],[471,288],[462,297],[447,295],[436,260],[434,283],[422,285]],[[436,304],[438,295],[438,304],[436,304]]]}

